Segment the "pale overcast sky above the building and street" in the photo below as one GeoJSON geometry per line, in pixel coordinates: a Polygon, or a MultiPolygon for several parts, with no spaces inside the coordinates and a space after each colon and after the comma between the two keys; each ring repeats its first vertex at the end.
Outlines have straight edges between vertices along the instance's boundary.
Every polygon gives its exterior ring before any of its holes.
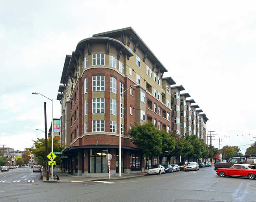
{"type": "MultiPolygon", "coordinates": [[[[60,118],[65,55],[93,34],[132,27],[209,121],[213,145],[256,139],[255,1],[0,0],[0,144],[15,150],[43,138],[60,118]],[[156,4],[157,3],[157,4],[156,4]],[[40,129],[40,130],[36,130],[40,129]]],[[[209,139],[208,139],[209,143],[209,139]]],[[[0,147],[2,147],[0,145],[0,147]]]]}

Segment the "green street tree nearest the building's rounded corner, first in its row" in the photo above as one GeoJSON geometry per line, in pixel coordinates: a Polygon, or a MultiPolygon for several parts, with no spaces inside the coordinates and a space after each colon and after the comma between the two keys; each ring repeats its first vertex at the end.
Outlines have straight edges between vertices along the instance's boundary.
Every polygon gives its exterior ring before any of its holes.
{"type": "MultiPolygon", "coordinates": [[[[131,141],[137,147],[142,149],[144,159],[146,156],[160,156],[162,152],[162,142],[160,130],[156,129],[152,122],[145,123],[144,125],[135,126],[128,131],[131,141]]],[[[144,172],[146,161],[144,160],[144,172]]]]}

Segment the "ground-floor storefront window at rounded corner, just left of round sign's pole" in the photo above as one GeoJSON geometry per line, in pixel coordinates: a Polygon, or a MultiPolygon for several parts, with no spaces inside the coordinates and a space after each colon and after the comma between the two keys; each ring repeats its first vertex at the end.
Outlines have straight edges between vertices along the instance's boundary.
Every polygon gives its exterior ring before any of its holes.
{"type": "Polygon", "coordinates": [[[90,173],[108,173],[107,149],[90,149],[90,173]]]}

